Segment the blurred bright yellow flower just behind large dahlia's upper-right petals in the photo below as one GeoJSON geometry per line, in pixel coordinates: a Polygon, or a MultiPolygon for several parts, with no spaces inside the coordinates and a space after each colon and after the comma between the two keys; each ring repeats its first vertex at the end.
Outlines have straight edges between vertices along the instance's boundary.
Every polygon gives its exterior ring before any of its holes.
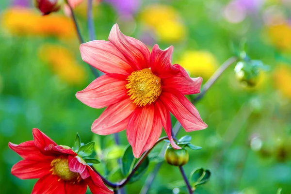
{"type": "Polygon", "coordinates": [[[181,56],[178,64],[192,77],[201,76],[204,80],[208,80],[218,68],[215,56],[208,51],[188,50],[181,56]]]}

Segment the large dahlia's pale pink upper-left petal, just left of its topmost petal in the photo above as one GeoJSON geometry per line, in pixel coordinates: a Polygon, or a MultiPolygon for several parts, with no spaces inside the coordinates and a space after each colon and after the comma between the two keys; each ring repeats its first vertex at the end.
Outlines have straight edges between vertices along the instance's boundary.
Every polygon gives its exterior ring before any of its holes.
{"type": "Polygon", "coordinates": [[[84,62],[106,74],[128,76],[134,71],[123,54],[109,41],[94,40],[81,44],[80,51],[84,62]]]}

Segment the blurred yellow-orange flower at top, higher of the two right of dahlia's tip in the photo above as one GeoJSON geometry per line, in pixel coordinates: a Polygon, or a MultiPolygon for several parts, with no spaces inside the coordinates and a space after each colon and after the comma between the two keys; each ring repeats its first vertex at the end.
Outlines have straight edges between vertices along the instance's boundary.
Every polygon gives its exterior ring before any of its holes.
{"type": "Polygon", "coordinates": [[[141,20],[164,42],[177,42],[185,37],[186,27],[173,7],[150,5],[141,14],[141,20]]]}

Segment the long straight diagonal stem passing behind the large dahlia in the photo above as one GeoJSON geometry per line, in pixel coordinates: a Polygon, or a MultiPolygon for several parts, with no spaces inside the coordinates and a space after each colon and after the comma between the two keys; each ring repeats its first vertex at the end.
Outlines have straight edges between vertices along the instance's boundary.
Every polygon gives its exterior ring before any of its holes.
{"type": "MultiPolygon", "coordinates": [[[[195,103],[197,101],[199,101],[202,97],[204,97],[204,95],[206,94],[206,92],[209,90],[209,88],[211,87],[211,85],[213,85],[213,83],[222,75],[222,73],[226,70],[227,67],[229,67],[231,64],[235,63],[238,60],[237,57],[233,56],[230,57],[229,59],[227,59],[217,70],[216,72],[211,76],[211,78],[204,84],[203,90],[202,92],[196,97],[194,98],[194,100],[192,101],[192,103],[195,103]]],[[[179,129],[181,127],[181,124],[177,121],[176,124],[173,127],[173,136],[176,136],[179,129]]],[[[161,154],[163,155],[165,152],[165,150],[163,150],[161,152],[161,154]]],[[[147,191],[150,188],[150,185],[152,184],[156,174],[158,173],[159,169],[162,166],[162,162],[158,163],[155,167],[155,169],[153,170],[152,173],[150,173],[148,175],[148,177],[146,178],[146,184],[143,186],[142,191],[140,194],[146,194],[147,191]]]]}

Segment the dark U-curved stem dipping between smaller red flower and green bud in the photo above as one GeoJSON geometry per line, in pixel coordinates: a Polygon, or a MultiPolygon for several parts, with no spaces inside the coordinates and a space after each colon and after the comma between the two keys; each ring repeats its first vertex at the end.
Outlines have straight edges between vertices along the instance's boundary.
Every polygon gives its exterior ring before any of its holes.
{"type": "Polygon", "coordinates": [[[158,145],[160,142],[162,142],[162,141],[165,140],[165,139],[168,139],[168,137],[165,136],[165,137],[161,137],[160,139],[158,139],[158,141],[155,143],[155,145],[154,145],[152,148],[150,148],[149,150],[147,150],[147,151],[143,154],[143,156],[140,158],[140,160],[135,164],[135,166],[133,167],[133,169],[132,169],[132,171],[130,172],[129,176],[128,176],[127,178],[122,179],[122,180],[119,181],[119,182],[113,183],[113,182],[107,180],[107,179],[104,178],[102,175],[100,175],[100,174],[98,173],[98,171],[97,171],[93,166],[91,166],[91,167],[92,167],[92,169],[97,173],[97,175],[99,175],[99,177],[103,180],[103,182],[104,182],[107,186],[113,188],[114,190],[120,189],[120,188],[124,187],[124,186],[129,182],[130,178],[132,178],[132,176],[134,175],[134,173],[136,172],[136,170],[137,170],[137,169],[140,167],[140,165],[145,161],[147,155],[151,152],[151,150],[152,150],[156,145],[158,145]]]}

